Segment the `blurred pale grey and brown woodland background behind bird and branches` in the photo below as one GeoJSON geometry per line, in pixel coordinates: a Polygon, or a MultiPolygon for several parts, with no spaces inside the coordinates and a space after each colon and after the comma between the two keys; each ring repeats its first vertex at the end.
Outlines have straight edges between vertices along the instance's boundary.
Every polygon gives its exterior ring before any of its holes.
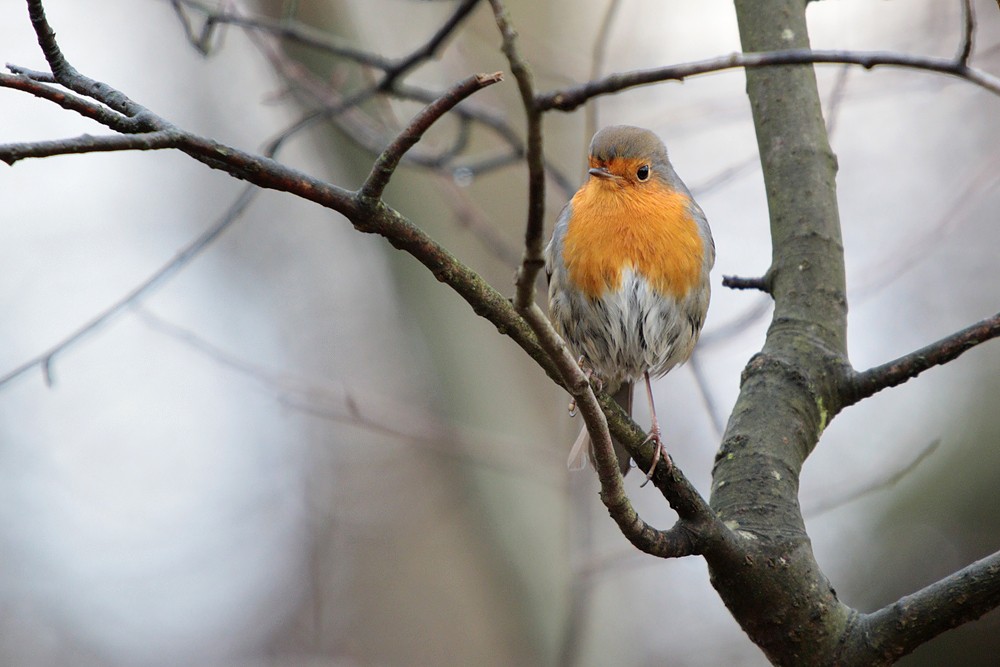
{"type": "MultiPolygon", "coordinates": [[[[739,48],[728,2],[508,4],[544,90],[739,48]]],[[[997,8],[975,6],[973,64],[1000,71],[997,8]]],[[[46,2],[83,73],[246,150],[284,136],[281,161],[354,188],[421,105],[369,100],[288,133],[379,77],[307,42],[401,58],[459,3],[225,2],[297,39],[220,25],[202,53],[189,36],[219,7],[46,2]]],[[[817,48],[951,56],[961,33],[958,1],[809,12],[817,48]]],[[[506,71],[499,41],[479,3],[403,85],[419,98],[506,71]]],[[[0,5],[0,46],[4,61],[44,68],[23,3],[0,5]]],[[[826,66],[818,79],[840,163],[854,365],[995,313],[1000,99],[915,71],[826,66]]],[[[512,78],[465,108],[500,131],[446,119],[387,199],[511,294],[526,211],[504,140],[523,136],[512,78]]],[[[0,118],[5,143],[106,133],[4,89],[0,118]]],[[[715,235],[702,344],[656,386],[667,446],[707,494],[769,316],[766,299],[721,287],[770,257],[743,73],[548,114],[549,220],[580,183],[590,134],[612,123],[663,137],[715,235]]],[[[566,470],[580,426],[567,397],[425,269],[332,212],[246,191],[179,153],[28,160],[0,169],[0,266],[0,374],[59,350],[0,385],[0,663],[766,664],[701,560],[636,553],[596,476],[566,470]]],[[[1000,344],[984,345],[823,435],[801,501],[848,604],[876,609],[1000,546],[998,369],[1000,344]]],[[[627,488],[639,511],[669,526],[638,478],[627,488]]],[[[994,664],[998,630],[990,614],[902,664],[994,664]]]]}

